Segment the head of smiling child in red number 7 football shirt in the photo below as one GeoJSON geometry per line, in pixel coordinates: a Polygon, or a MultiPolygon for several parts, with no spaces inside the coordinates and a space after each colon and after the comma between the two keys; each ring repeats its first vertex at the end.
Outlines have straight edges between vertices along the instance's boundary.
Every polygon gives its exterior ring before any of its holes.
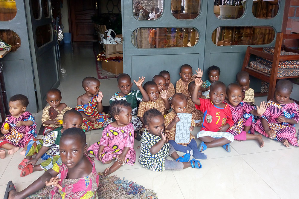
{"type": "Polygon", "coordinates": [[[222,81],[215,81],[211,84],[209,96],[213,104],[221,104],[225,99],[225,95],[226,86],[222,81]]]}

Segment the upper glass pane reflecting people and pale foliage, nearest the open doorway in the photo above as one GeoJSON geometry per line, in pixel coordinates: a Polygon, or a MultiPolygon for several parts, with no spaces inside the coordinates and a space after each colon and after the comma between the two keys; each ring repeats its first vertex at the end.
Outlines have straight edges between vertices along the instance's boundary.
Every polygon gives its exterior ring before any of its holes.
{"type": "Polygon", "coordinates": [[[133,15],[138,20],[154,20],[163,13],[163,0],[132,0],[133,15]]]}

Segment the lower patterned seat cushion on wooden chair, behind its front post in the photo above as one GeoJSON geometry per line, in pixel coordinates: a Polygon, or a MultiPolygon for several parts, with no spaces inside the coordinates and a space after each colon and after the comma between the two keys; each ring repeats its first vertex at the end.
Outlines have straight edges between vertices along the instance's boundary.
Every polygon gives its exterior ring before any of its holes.
{"type": "MultiPolygon", "coordinates": [[[[256,70],[265,72],[267,74],[271,74],[271,67],[261,64],[257,61],[251,61],[249,67],[254,68],[256,70]]],[[[277,71],[277,77],[290,77],[290,76],[298,76],[299,75],[299,67],[298,68],[280,68],[277,71]]]]}

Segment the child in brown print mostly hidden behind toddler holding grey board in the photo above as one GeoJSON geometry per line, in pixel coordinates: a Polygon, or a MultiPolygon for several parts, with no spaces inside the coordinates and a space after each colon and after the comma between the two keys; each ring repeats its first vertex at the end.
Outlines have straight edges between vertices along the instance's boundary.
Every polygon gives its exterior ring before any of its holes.
{"type": "MultiPolygon", "coordinates": [[[[190,95],[192,95],[194,87],[195,87],[195,82],[191,81],[190,84],[188,85],[188,91],[189,91],[190,95]]],[[[202,96],[201,87],[199,87],[199,90],[197,93],[197,98],[205,98],[204,96],[202,96]]],[[[202,126],[202,120],[203,120],[204,114],[203,114],[203,112],[201,112],[200,110],[195,108],[195,104],[193,103],[191,98],[187,100],[187,113],[192,114],[192,119],[194,120],[196,127],[202,126]]]]}

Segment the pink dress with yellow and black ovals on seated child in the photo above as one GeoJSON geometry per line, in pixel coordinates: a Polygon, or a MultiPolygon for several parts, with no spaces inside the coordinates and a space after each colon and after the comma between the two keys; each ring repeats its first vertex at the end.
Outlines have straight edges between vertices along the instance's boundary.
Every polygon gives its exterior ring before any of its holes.
{"type": "Polygon", "coordinates": [[[98,151],[100,146],[105,146],[102,153],[102,162],[105,163],[109,160],[117,158],[116,156],[123,152],[125,147],[129,147],[126,154],[126,163],[134,165],[136,160],[136,152],[134,150],[134,128],[130,123],[124,127],[115,128],[109,124],[102,133],[100,142],[96,142],[89,146],[88,152],[93,154],[97,160],[98,151]]]}

